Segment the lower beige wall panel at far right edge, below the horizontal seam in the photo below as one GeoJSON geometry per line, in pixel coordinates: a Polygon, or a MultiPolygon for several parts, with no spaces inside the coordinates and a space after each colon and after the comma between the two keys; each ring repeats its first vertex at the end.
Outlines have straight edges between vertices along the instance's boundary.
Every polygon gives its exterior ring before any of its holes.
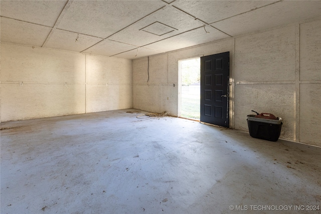
{"type": "Polygon", "coordinates": [[[321,146],[321,84],[300,84],[300,142],[321,146]]]}

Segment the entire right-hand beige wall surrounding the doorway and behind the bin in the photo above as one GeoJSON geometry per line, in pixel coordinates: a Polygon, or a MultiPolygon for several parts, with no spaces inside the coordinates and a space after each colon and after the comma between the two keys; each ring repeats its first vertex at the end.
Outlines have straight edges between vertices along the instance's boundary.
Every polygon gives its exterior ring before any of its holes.
{"type": "Polygon", "coordinates": [[[179,60],[229,51],[230,127],[269,112],[283,118],[280,138],[321,146],[320,32],[320,20],[296,23],[133,60],[133,107],[178,116],[179,60]]]}

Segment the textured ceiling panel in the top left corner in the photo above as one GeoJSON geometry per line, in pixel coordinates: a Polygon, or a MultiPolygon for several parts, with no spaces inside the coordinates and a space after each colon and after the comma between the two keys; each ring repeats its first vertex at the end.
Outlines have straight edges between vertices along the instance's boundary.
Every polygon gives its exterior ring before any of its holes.
{"type": "Polygon", "coordinates": [[[1,16],[54,27],[68,1],[1,1],[1,16]]]}

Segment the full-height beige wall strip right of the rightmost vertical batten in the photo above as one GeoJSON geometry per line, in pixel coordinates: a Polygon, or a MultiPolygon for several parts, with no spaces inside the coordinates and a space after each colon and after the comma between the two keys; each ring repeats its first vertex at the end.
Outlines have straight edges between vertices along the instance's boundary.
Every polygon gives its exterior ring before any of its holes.
{"type": "Polygon", "coordinates": [[[321,20],[300,25],[299,141],[321,146],[321,20]]]}

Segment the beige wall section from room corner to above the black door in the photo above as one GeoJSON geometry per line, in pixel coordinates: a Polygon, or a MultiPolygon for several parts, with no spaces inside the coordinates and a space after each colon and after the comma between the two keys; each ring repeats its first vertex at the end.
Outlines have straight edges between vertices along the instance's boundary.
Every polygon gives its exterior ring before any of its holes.
{"type": "Polygon", "coordinates": [[[179,61],[228,51],[232,62],[234,40],[133,60],[133,107],[178,116],[179,61]]]}

